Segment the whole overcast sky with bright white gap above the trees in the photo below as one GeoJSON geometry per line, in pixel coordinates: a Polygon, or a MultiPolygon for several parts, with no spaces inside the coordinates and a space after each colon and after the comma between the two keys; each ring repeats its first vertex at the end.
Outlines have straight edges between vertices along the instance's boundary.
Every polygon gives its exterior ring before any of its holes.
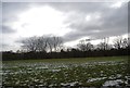
{"type": "Polygon", "coordinates": [[[128,34],[128,2],[2,2],[1,20],[2,50],[18,50],[18,40],[43,35],[63,37],[68,47],[89,38],[98,43],[128,34]]]}

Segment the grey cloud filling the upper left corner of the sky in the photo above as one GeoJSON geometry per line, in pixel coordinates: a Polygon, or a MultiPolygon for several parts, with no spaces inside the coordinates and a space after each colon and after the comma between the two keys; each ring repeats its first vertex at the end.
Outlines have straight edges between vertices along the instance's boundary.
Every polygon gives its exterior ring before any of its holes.
{"type": "Polygon", "coordinates": [[[27,2],[2,2],[2,24],[17,20],[17,14],[26,11],[30,3],[27,2]]]}

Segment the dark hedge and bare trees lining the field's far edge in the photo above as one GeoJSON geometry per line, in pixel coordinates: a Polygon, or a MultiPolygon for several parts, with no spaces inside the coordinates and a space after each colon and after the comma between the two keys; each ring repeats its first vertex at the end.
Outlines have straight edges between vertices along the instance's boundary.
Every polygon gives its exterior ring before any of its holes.
{"type": "Polygon", "coordinates": [[[108,38],[104,38],[98,45],[92,45],[91,39],[84,39],[77,43],[77,48],[65,48],[63,46],[64,40],[62,37],[35,36],[21,40],[21,51],[17,50],[17,52],[2,52],[2,60],[129,55],[129,39],[130,38],[117,37],[113,45],[108,43],[108,38]]]}

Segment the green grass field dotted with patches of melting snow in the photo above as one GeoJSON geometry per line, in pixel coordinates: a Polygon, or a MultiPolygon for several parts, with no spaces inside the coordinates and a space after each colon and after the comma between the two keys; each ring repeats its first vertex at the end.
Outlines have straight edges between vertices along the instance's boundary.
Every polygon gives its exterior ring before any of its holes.
{"type": "Polygon", "coordinates": [[[121,79],[126,86],[128,56],[48,59],[3,62],[3,86],[101,87],[121,79]]]}

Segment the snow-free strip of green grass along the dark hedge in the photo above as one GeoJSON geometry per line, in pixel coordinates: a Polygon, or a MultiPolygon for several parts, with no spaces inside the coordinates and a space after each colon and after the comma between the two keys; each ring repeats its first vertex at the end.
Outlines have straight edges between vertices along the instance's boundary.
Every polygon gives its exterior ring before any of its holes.
{"type": "Polygon", "coordinates": [[[38,59],[38,60],[16,60],[3,61],[2,63],[17,63],[17,62],[101,62],[101,61],[127,61],[128,56],[101,56],[101,58],[70,58],[70,59],[38,59]]]}

